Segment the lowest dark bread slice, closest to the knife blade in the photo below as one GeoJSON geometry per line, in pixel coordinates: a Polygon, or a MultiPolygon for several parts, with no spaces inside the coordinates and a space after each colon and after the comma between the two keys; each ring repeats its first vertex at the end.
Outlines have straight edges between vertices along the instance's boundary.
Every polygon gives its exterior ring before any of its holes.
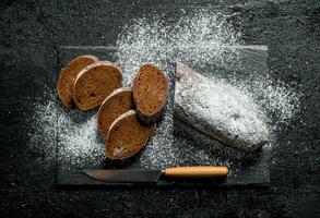
{"type": "Polygon", "coordinates": [[[134,110],[121,114],[110,126],[106,140],[106,157],[122,160],[139,153],[155,130],[155,124],[144,125],[134,110]]]}

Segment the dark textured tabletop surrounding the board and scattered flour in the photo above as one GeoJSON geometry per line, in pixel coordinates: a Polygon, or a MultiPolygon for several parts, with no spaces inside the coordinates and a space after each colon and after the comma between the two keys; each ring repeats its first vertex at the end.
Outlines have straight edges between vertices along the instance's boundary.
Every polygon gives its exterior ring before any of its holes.
{"type": "MultiPolygon", "coordinates": [[[[317,217],[320,214],[320,1],[8,1],[0,3],[0,217],[317,217]],[[223,2],[223,3],[222,3],[223,2]],[[270,48],[269,66],[304,94],[300,120],[283,126],[270,189],[60,190],[55,160],[26,143],[31,102],[55,86],[57,47],[115,44],[142,14],[193,7],[238,12],[247,45],[270,48]],[[289,66],[291,65],[291,66],[289,66]]],[[[237,22],[236,22],[237,23],[237,22]]]]}

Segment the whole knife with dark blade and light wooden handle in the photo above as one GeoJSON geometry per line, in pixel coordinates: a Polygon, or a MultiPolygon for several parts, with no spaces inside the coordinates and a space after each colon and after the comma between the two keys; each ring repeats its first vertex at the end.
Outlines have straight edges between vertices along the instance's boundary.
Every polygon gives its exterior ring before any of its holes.
{"type": "Polygon", "coordinates": [[[163,170],[105,170],[85,169],[83,173],[102,182],[156,183],[161,177],[174,179],[214,179],[226,178],[225,166],[174,167],[163,170]]]}

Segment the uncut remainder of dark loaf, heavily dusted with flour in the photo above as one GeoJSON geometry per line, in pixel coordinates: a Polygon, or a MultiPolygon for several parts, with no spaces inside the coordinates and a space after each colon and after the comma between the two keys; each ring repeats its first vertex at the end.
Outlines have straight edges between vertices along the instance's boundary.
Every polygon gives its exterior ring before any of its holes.
{"type": "Polygon", "coordinates": [[[195,130],[244,152],[268,142],[263,113],[237,87],[212,81],[177,63],[174,116],[195,130]]]}

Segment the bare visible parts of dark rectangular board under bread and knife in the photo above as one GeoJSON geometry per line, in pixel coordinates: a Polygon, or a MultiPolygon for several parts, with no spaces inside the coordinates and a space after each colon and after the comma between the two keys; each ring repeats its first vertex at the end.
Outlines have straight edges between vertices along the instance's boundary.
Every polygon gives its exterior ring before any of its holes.
{"type": "MultiPolygon", "coordinates": [[[[237,72],[239,78],[240,76],[247,76],[248,74],[266,74],[266,57],[268,57],[268,48],[263,46],[240,46],[235,47],[238,53],[238,62],[236,62],[233,66],[228,66],[227,69],[217,69],[214,63],[206,63],[205,65],[190,65],[202,72],[204,75],[214,72],[215,74],[220,73],[220,76],[227,77],[230,72],[237,72]],[[201,69],[201,68],[202,69],[201,69]]],[[[116,51],[117,48],[115,46],[62,46],[59,48],[59,66],[62,68],[68,61],[81,55],[94,55],[97,56],[100,60],[116,60],[116,51]]],[[[173,60],[179,59],[179,57],[173,58],[173,60]]],[[[191,64],[191,63],[190,63],[191,64]]],[[[168,77],[170,81],[170,87],[168,92],[168,105],[173,104],[174,100],[174,71],[175,64],[168,64],[168,69],[164,69],[168,73],[168,77]],[[173,65],[173,66],[171,66],[173,65]],[[171,68],[170,68],[171,66],[171,68]]],[[[125,70],[126,73],[126,70],[125,70]]],[[[173,116],[173,108],[167,109],[165,112],[166,116],[173,116]]],[[[71,122],[85,122],[87,119],[92,117],[96,111],[88,112],[75,112],[76,119],[71,119],[71,122]],[[81,121],[79,120],[79,116],[81,117],[81,121]]],[[[74,113],[72,113],[74,116],[74,113]]],[[[71,111],[70,111],[70,116],[71,111]]],[[[64,113],[66,116],[66,113],[64,113]]],[[[67,110],[68,116],[68,110],[67,110]]],[[[162,122],[162,121],[161,121],[162,122]]],[[[162,123],[158,123],[161,125],[162,123]]],[[[174,121],[174,123],[168,123],[169,125],[174,125],[174,130],[171,134],[174,135],[174,146],[179,147],[179,153],[181,154],[179,158],[181,159],[180,166],[197,166],[201,165],[202,160],[191,160],[183,156],[183,153],[197,153],[197,150],[201,149],[204,153],[210,153],[212,156],[212,164],[215,165],[216,159],[222,159],[223,162],[226,162],[229,166],[230,173],[228,178],[224,181],[194,181],[194,180],[165,180],[161,179],[156,185],[218,185],[218,186],[232,186],[232,185],[268,185],[270,182],[270,173],[268,160],[270,156],[270,150],[268,148],[263,148],[261,153],[257,155],[246,155],[241,152],[235,150],[233,148],[228,148],[222,143],[209,138],[205,135],[199,133],[198,131],[189,128],[188,125],[174,121]],[[188,138],[187,146],[186,144],[181,144],[181,141],[188,138]],[[190,150],[191,149],[191,150],[190,150]]],[[[93,164],[92,161],[86,161],[83,158],[83,165],[78,166],[72,164],[70,159],[72,157],[67,157],[63,153],[63,149],[67,149],[66,144],[59,141],[59,134],[68,131],[68,126],[63,126],[59,121],[57,123],[57,132],[58,132],[58,141],[57,141],[57,158],[58,158],[58,169],[57,169],[57,183],[59,185],[134,185],[134,183],[108,183],[108,182],[99,182],[95,181],[92,178],[83,174],[83,169],[91,168],[102,168],[102,169],[114,169],[115,165],[108,164],[108,160],[105,160],[104,157],[97,158],[97,160],[93,164]]],[[[157,132],[156,132],[157,134],[157,132]]],[[[152,146],[153,142],[149,142],[146,147],[142,150],[149,149],[152,146]]],[[[162,143],[162,142],[161,142],[162,143]]],[[[166,142],[164,142],[166,143],[166,142]]],[[[104,147],[104,141],[100,141],[102,147],[104,147]]],[[[104,148],[100,150],[102,155],[104,153],[104,148]]],[[[166,160],[164,160],[166,162],[166,160]]],[[[167,160],[167,162],[170,162],[167,160]]],[[[149,166],[146,166],[149,167],[149,166]]],[[[154,167],[154,166],[153,166],[154,167]]],[[[155,166],[156,167],[156,166],[155,166]]],[[[169,166],[168,167],[175,167],[169,166]]],[[[143,165],[141,165],[140,160],[134,159],[126,166],[116,166],[118,169],[143,169],[143,165]]],[[[161,166],[158,166],[161,168],[161,166]]],[[[140,184],[141,185],[141,184],[140,184]]]]}

